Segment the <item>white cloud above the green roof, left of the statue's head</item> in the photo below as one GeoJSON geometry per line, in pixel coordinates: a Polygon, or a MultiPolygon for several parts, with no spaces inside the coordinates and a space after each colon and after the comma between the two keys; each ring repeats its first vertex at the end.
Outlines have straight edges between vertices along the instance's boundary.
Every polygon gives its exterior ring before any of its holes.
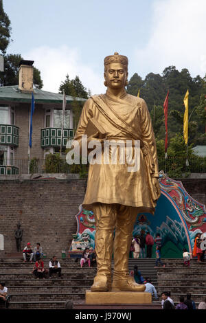
{"type": "Polygon", "coordinates": [[[58,93],[60,83],[80,77],[82,84],[91,90],[92,94],[102,93],[104,90],[102,75],[96,75],[92,67],[84,64],[78,49],[62,45],[58,48],[41,46],[23,53],[23,58],[34,60],[34,66],[41,71],[43,90],[58,93]]]}

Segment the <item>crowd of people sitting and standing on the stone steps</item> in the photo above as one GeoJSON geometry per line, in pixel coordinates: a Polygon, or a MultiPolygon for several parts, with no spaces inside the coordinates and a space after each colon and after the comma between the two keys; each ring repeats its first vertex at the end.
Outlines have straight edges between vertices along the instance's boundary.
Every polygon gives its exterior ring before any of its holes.
{"type": "MultiPolygon", "coordinates": [[[[201,242],[205,240],[204,236],[201,236],[201,233],[196,234],[194,239],[194,249],[192,253],[187,252],[187,249],[183,249],[183,262],[185,266],[190,266],[190,259],[192,257],[197,256],[198,263],[203,262],[205,256],[205,250],[201,249],[201,242]]],[[[160,264],[165,267],[161,262],[161,247],[162,247],[162,238],[159,233],[156,234],[156,238],[151,236],[150,232],[144,231],[141,232],[140,235],[136,235],[133,237],[131,249],[130,249],[130,257],[133,254],[133,258],[137,259],[139,256],[141,258],[151,258],[152,257],[152,247],[155,246],[156,253],[156,263],[155,267],[160,264]]],[[[53,256],[49,260],[49,268],[45,269],[45,265],[43,262],[43,248],[40,243],[36,243],[36,247],[34,247],[34,252],[32,249],[31,243],[27,243],[25,248],[23,249],[23,263],[26,261],[30,261],[30,263],[34,263],[34,269],[32,273],[36,276],[37,279],[43,278],[45,279],[47,274],[49,274],[49,278],[52,278],[53,274],[58,274],[58,277],[61,278],[61,267],[60,262],[57,260],[56,256],[53,256]]],[[[85,264],[88,264],[89,267],[96,264],[96,254],[95,249],[86,248],[82,253],[82,257],[80,258],[80,267],[83,267],[85,264]]],[[[138,284],[144,284],[146,286],[145,291],[152,294],[155,300],[158,300],[157,290],[155,286],[152,285],[151,278],[144,277],[141,275],[141,271],[138,269],[137,265],[134,266],[134,269],[130,271],[130,276],[133,277],[135,282],[138,284]]],[[[186,299],[181,296],[179,298],[179,303],[174,305],[172,298],[170,297],[170,291],[164,291],[161,294],[161,307],[162,309],[196,309],[196,304],[194,300],[191,299],[191,294],[187,293],[186,299]]],[[[0,302],[4,302],[5,306],[8,307],[9,304],[9,296],[8,296],[8,288],[5,287],[5,283],[0,283],[0,302]]],[[[198,309],[206,309],[206,298],[199,303],[198,309]]]]}

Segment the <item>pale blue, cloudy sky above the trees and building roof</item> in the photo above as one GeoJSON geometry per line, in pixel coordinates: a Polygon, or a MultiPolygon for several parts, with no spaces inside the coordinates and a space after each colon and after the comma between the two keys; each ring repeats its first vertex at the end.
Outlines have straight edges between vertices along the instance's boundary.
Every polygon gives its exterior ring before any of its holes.
{"type": "Polygon", "coordinates": [[[206,0],[3,0],[12,26],[8,54],[34,60],[45,91],[76,75],[104,93],[104,57],[128,56],[129,78],[165,67],[206,72],[206,0]]]}

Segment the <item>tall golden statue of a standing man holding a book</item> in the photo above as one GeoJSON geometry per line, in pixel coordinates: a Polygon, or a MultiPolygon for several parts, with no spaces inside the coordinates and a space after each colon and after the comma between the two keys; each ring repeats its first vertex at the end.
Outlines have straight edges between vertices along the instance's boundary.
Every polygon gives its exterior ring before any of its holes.
{"type": "MultiPolygon", "coordinates": [[[[146,102],[126,93],[128,58],[115,53],[104,58],[105,94],[85,102],[74,140],[81,146],[88,122],[100,129],[88,138],[98,140],[140,141],[140,167],[128,172],[128,164],[90,164],[83,208],[95,216],[97,275],[91,291],[144,291],[129,276],[128,255],[133,226],[139,212],[154,214],[160,197],[155,137],[146,102]],[[114,234],[115,231],[115,234],[114,234]],[[111,258],[114,255],[113,282],[111,258]]],[[[134,145],[133,145],[134,146],[134,145]]],[[[132,146],[132,149],[133,149],[132,146]]],[[[117,147],[117,149],[120,149],[117,147]]],[[[120,153],[120,151],[118,150],[120,153]]],[[[102,160],[104,153],[102,153],[102,160]]],[[[111,156],[111,150],[109,151],[111,156]]]]}

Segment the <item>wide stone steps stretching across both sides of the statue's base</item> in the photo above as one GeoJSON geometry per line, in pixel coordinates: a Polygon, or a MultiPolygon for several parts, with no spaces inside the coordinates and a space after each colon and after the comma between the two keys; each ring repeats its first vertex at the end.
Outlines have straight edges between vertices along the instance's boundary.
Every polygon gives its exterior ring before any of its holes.
{"type": "MultiPolygon", "coordinates": [[[[205,264],[197,264],[192,260],[191,267],[183,267],[183,260],[163,260],[165,268],[155,269],[155,259],[130,259],[129,269],[138,266],[144,278],[150,277],[159,294],[159,301],[144,307],[140,305],[118,305],[115,309],[159,309],[161,292],[171,292],[174,302],[179,302],[179,296],[192,293],[192,299],[198,304],[205,296],[206,273],[205,264]],[[200,274],[201,270],[201,274],[200,274]]],[[[49,267],[49,258],[44,259],[45,268],[49,267]]],[[[60,259],[62,278],[53,274],[52,278],[37,280],[32,274],[34,264],[23,263],[22,258],[0,258],[0,282],[5,282],[8,293],[12,296],[10,309],[64,309],[65,301],[72,300],[74,309],[101,309],[109,306],[88,306],[84,304],[85,291],[90,289],[96,273],[95,267],[87,265],[80,268],[80,260],[74,258],[60,259]]],[[[0,305],[0,309],[3,306],[0,305]]]]}

